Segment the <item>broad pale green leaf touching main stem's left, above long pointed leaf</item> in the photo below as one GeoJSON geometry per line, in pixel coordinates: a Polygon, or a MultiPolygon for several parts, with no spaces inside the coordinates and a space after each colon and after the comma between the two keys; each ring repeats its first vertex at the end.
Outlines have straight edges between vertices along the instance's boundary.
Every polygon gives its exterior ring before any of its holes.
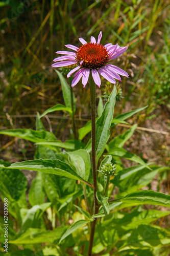
{"type": "Polygon", "coordinates": [[[86,150],[67,152],[69,162],[75,166],[77,174],[88,181],[90,175],[91,161],[86,150]]]}

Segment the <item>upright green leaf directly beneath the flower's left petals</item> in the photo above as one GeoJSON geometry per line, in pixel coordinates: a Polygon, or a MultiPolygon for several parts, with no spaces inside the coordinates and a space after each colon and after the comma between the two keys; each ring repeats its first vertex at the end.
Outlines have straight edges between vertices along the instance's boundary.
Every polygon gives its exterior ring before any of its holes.
{"type": "MultiPolygon", "coordinates": [[[[58,74],[59,78],[60,78],[60,82],[61,82],[61,87],[62,87],[62,93],[63,93],[63,99],[64,99],[64,103],[65,105],[71,109],[71,92],[70,92],[70,86],[68,85],[68,83],[66,82],[65,78],[63,77],[63,75],[56,70],[56,73],[58,74]]],[[[74,104],[74,113],[76,111],[76,100],[75,100],[75,96],[73,95],[73,104],[74,104]]],[[[73,114],[74,114],[73,113],[73,114]]]]}

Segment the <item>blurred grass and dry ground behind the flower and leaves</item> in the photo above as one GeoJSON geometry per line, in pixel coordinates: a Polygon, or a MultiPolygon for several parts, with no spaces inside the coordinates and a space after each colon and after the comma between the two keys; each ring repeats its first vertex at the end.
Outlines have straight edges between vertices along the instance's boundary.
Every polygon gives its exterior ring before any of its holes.
{"type": "MultiPolygon", "coordinates": [[[[91,35],[97,38],[102,31],[102,44],[111,42],[128,46],[127,52],[114,62],[130,75],[129,79],[117,84],[123,98],[116,103],[116,115],[148,105],[129,120],[130,124],[137,123],[139,128],[126,147],[145,161],[168,165],[169,7],[169,0],[1,1],[1,130],[35,129],[37,112],[41,114],[51,106],[63,103],[59,77],[51,68],[57,57],[55,52],[65,50],[65,44],[79,47],[79,37],[89,41],[91,35]]],[[[97,96],[108,93],[109,89],[110,84],[103,80],[97,96]]],[[[79,82],[74,93],[77,99],[76,124],[80,128],[90,119],[88,84],[83,89],[79,82]]],[[[71,120],[66,113],[55,112],[42,121],[46,129],[53,131],[62,141],[71,137],[71,120]]],[[[126,125],[117,125],[112,137],[126,129],[126,125]]],[[[1,136],[1,142],[0,153],[4,160],[33,159],[33,143],[8,136],[1,136]]]]}

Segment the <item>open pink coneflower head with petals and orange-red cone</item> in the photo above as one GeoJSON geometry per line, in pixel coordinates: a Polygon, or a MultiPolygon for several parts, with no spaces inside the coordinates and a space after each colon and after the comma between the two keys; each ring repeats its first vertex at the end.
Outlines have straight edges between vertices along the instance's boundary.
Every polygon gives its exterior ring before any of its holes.
{"type": "Polygon", "coordinates": [[[64,56],[55,58],[53,60],[55,61],[55,63],[52,65],[53,68],[78,65],[67,74],[67,77],[70,77],[74,72],[77,71],[74,75],[74,79],[72,80],[71,87],[76,86],[81,78],[83,86],[85,87],[89,78],[90,71],[93,80],[98,87],[101,86],[100,75],[111,83],[116,83],[115,79],[121,81],[119,75],[128,77],[127,72],[109,64],[111,60],[123,54],[127,50],[127,47],[120,47],[119,45],[112,44],[103,46],[100,44],[101,38],[102,31],[98,36],[97,42],[93,36],[91,36],[89,43],[86,42],[83,38],[79,38],[80,42],[82,43],[80,48],[72,45],[65,45],[67,48],[73,50],[74,52],[56,52],[58,54],[63,54],[64,56]]]}

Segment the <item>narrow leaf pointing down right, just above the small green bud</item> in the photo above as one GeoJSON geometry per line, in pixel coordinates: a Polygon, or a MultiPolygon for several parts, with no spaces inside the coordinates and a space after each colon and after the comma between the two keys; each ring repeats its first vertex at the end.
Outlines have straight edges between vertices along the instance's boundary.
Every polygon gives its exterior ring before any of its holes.
{"type": "Polygon", "coordinates": [[[148,169],[151,169],[140,157],[126,151],[124,148],[115,147],[115,148],[113,148],[113,150],[109,151],[108,154],[112,155],[112,156],[123,157],[123,158],[129,159],[131,161],[134,161],[136,163],[144,165],[148,169]]]}

